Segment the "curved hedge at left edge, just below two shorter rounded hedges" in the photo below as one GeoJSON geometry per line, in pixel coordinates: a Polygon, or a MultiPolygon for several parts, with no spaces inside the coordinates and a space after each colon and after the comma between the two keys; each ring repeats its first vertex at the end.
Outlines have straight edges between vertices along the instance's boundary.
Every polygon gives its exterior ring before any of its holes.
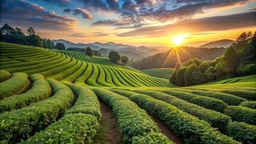
{"type": "Polygon", "coordinates": [[[20,109],[31,103],[44,100],[50,96],[52,89],[45,79],[34,80],[32,88],[29,91],[7,97],[0,101],[0,113],[20,109]]]}

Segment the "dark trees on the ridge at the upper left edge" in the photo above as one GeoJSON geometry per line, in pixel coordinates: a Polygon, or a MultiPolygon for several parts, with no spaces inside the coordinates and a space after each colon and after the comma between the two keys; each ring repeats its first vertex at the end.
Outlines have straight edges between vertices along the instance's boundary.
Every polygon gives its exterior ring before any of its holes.
{"type": "Polygon", "coordinates": [[[29,27],[26,34],[22,32],[20,28],[12,28],[10,25],[5,23],[0,28],[0,41],[6,43],[16,43],[28,46],[44,47],[47,49],[59,49],[64,50],[65,46],[62,43],[57,43],[56,46],[52,41],[46,38],[40,38],[39,35],[35,34],[33,28],[29,27]]]}

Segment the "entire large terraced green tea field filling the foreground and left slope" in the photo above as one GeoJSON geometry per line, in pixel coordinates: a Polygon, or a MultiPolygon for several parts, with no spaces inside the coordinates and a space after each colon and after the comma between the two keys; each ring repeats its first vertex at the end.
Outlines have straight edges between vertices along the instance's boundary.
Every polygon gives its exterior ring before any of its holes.
{"type": "Polygon", "coordinates": [[[255,81],[172,88],[108,59],[0,46],[0,143],[255,142],[255,81]]]}

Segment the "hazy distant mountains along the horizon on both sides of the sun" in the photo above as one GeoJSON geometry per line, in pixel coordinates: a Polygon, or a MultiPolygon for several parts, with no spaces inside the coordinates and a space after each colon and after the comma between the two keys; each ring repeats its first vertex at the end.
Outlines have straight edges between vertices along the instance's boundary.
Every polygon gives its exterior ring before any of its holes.
{"type": "MultiPolygon", "coordinates": [[[[147,57],[150,55],[154,55],[156,53],[165,52],[168,49],[171,49],[171,47],[166,46],[158,46],[158,47],[146,47],[146,46],[139,46],[135,47],[129,44],[120,44],[120,43],[114,43],[114,42],[108,42],[108,43],[72,43],[67,40],[52,40],[53,43],[63,43],[66,48],[70,47],[79,47],[79,48],[85,48],[85,47],[91,47],[91,49],[99,50],[100,53],[104,57],[108,57],[109,52],[111,50],[115,50],[116,52],[120,53],[120,55],[126,55],[129,59],[141,59],[143,57],[147,57]]],[[[183,44],[183,46],[189,46],[189,47],[228,47],[230,46],[234,41],[233,40],[218,40],[218,41],[196,41],[193,43],[186,43],[183,44]]]]}

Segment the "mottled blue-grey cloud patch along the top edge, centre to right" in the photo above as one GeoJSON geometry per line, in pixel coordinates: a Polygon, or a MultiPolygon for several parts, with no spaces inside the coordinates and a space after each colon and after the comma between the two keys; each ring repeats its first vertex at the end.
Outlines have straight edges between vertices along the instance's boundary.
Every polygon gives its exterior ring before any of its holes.
{"type": "MultiPolygon", "coordinates": [[[[233,5],[242,5],[250,0],[87,0],[84,2],[84,7],[89,11],[109,11],[118,14],[117,24],[105,23],[108,26],[117,26],[133,28],[134,25],[141,23],[159,23],[159,22],[178,22],[186,19],[192,19],[195,14],[204,13],[209,8],[230,7],[233,5]],[[115,2],[111,5],[109,1],[115,2]]],[[[103,20],[93,23],[103,25],[103,20]]],[[[107,22],[107,20],[105,20],[107,22]]]]}

